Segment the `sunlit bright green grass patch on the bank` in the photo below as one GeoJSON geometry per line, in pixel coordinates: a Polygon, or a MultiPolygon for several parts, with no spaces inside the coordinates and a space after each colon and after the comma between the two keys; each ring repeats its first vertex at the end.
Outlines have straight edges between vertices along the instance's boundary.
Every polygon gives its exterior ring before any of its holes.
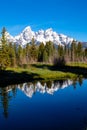
{"type": "Polygon", "coordinates": [[[52,65],[41,65],[36,64],[30,65],[28,68],[8,68],[7,70],[16,72],[16,73],[23,73],[26,72],[27,74],[33,74],[35,75],[34,79],[43,79],[43,80],[49,80],[49,79],[65,79],[65,78],[73,78],[76,76],[76,74],[70,73],[70,72],[62,72],[58,70],[52,70],[52,65]]]}

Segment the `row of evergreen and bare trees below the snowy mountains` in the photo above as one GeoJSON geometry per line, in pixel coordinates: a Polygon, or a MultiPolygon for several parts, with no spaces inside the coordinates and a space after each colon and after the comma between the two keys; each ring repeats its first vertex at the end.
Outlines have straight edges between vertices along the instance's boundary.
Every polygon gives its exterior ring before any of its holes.
{"type": "Polygon", "coordinates": [[[24,66],[31,63],[87,62],[87,48],[81,42],[72,41],[71,46],[55,46],[51,41],[35,44],[34,38],[25,47],[7,41],[6,29],[3,28],[0,40],[0,69],[24,66]]]}

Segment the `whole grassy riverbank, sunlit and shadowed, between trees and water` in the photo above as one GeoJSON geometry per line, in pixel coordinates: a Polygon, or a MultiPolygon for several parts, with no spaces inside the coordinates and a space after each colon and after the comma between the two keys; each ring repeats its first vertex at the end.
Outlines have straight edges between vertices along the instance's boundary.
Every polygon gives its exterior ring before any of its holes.
{"type": "Polygon", "coordinates": [[[78,76],[87,77],[87,66],[53,66],[48,64],[32,64],[28,67],[7,68],[0,71],[0,85],[18,84],[35,80],[73,79],[78,76]]]}

